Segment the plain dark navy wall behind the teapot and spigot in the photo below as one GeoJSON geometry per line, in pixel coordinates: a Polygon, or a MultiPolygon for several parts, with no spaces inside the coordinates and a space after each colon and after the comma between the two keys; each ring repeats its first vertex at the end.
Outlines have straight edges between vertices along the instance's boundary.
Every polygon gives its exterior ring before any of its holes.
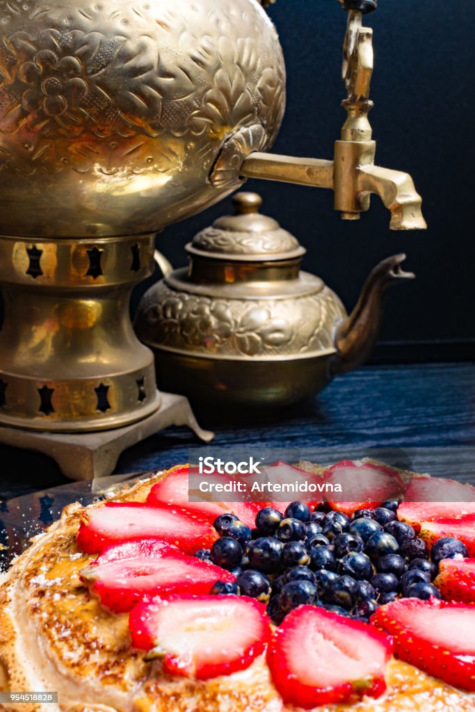
{"type": "MultiPolygon", "coordinates": [[[[390,215],[377,197],[359,222],[345,222],[333,211],[328,190],[264,181],[249,181],[245,189],[261,193],[263,211],[307,248],[303,268],[318,273],[348,309],[372,266],[407,253],[404,268],[416,272],[417,281],[390,293],[373,361],[473,359],[475,3],[379,5],[365,16],[375,33],[370,120],[376,162],[412,174],[429,229],[390,231],[390,215]]],[[[340,66],[346,14],[336,0],[277,0],[269,14],[288,73],[286,117],[273,152],[330,159],[345,120],[340,66]]],[[[168,228],[158,247],[182,266],[187,241],[229,211],[231,199],[168,228]]]]}

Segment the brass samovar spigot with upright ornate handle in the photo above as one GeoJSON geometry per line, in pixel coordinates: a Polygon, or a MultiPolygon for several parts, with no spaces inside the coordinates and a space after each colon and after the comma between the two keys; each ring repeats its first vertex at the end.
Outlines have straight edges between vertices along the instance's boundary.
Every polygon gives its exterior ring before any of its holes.
{"type": "Polygon", "coordinates": [[[390,229],[425,229],[422,199],[412,177],[375,165],[376,142],[368,120],[373,105],[372,28],[363,26],[362,15],[375,10],[377,0],[338,1],[348,11],[342,68],[347,90],[342,105],[347,118],[340,140],[335,142],[333,161],[251,153],[242,164],[241,176],[331,188],[335,210],[345,220],[359,219],[362,211],[370,207],[370,195],[374,193],[391,213],[390,229]]]}

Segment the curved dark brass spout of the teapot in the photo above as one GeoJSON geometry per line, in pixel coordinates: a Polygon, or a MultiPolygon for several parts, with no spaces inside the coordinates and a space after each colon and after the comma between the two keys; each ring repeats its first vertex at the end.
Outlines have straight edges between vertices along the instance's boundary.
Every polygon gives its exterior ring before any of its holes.
{"type": "Polygon", "coordinates": [[[350,316],[340,322],[333,343],[337,352],[330,360],[330,375],[346,373],[367,360],[380,331],[385,291],[392,284],[414,279],[404,272],[405,254],[393,255],[380,262],[370,273],[357,305],[350,316]]]}

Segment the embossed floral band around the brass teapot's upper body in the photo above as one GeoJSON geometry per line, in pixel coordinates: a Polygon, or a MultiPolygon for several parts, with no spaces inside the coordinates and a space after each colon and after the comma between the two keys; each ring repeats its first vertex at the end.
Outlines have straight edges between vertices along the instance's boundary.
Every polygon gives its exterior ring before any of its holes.
{"type": "Polygon", "coordinates": [[[222,300],[177,292],[165,281],[142,300],[137,333],[146,343],[196,355],[267,357],[333,350],[345,308],[328,288],[300,298],[222,300]]]}

